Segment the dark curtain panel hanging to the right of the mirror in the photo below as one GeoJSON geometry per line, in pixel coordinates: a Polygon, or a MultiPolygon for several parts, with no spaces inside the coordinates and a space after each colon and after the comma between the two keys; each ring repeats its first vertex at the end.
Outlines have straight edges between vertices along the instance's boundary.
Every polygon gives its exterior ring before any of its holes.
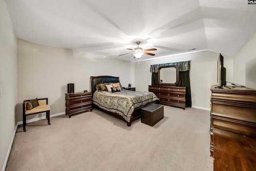
{"type": "Polygon", "coordinates": [[[191,101],[189,71],[179,71],[179,82],[178,82],[177,86],[187,87],[186,107],[191,107],[192,101],[191,101]]]}

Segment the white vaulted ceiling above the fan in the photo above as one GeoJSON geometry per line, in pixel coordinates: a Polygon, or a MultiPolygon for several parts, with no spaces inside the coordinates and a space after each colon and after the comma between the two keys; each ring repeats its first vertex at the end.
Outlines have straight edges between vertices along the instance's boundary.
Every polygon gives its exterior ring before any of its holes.
{"type": "Polygon", "coordinates": [[[247,0],[5,0],[17,38],[134,61],[212,50],[234,56],[256,32],[247,0]]]}

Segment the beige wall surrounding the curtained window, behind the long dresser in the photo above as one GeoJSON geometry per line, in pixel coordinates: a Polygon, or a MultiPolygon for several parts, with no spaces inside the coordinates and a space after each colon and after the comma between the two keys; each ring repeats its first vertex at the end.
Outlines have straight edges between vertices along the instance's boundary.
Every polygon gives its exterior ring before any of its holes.
{"type": "MultiPolygon", "coordinates": [[[[223,56],[224,67],[226,68],[226,80],[232,82],[233,59],[229,56],[223,56]]],[[[139,67],[138,63],[136,63],[136,90],[148,91],[148,85],[151,85],[150,65],[191,60],[190,87],[193,99],[192,107],[210,109],[210,87],[213,84],[217,84],[218,57],[219,53],[204,51],[141,61],[139,67]]]]}

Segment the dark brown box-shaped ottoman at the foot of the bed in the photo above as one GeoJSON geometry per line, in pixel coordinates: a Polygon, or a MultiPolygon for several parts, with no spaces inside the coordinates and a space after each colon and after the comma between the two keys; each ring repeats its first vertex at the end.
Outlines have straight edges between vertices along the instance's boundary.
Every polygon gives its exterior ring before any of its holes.
{"type": "Polygon", "coordinates": [[[154,126],[164,118],[164,105],[150,104],[141,108],[141,122],[150,126],[154,126]]]}

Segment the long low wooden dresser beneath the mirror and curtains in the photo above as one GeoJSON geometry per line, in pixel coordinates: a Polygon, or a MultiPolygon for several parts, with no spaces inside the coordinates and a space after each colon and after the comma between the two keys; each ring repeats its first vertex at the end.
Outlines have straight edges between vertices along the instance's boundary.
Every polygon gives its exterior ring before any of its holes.
{"type": "Polygon", "coordinates": [[[186,87],[148,85],[148,91],[153,92],[161,104],[186,108],[186,87]]]}

